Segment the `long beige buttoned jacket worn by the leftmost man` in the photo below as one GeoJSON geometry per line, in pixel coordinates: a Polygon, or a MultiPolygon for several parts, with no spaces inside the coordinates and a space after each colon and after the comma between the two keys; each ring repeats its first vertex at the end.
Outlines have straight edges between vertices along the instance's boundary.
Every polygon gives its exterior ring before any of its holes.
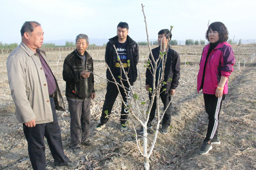
{"type": "MultiPolygon", "coordinates": [[[[42,50],[41,55],[49,65],[42,50]]],[[[39,55],[21,42],[9,55],[6,66],[18,121],[25,123],[35,119],[36,124],[53,122],[47,81],[39,55]]],[[[56,79],[55,82],[56,109],[64,111],[64,102],[56,79]]]]}

